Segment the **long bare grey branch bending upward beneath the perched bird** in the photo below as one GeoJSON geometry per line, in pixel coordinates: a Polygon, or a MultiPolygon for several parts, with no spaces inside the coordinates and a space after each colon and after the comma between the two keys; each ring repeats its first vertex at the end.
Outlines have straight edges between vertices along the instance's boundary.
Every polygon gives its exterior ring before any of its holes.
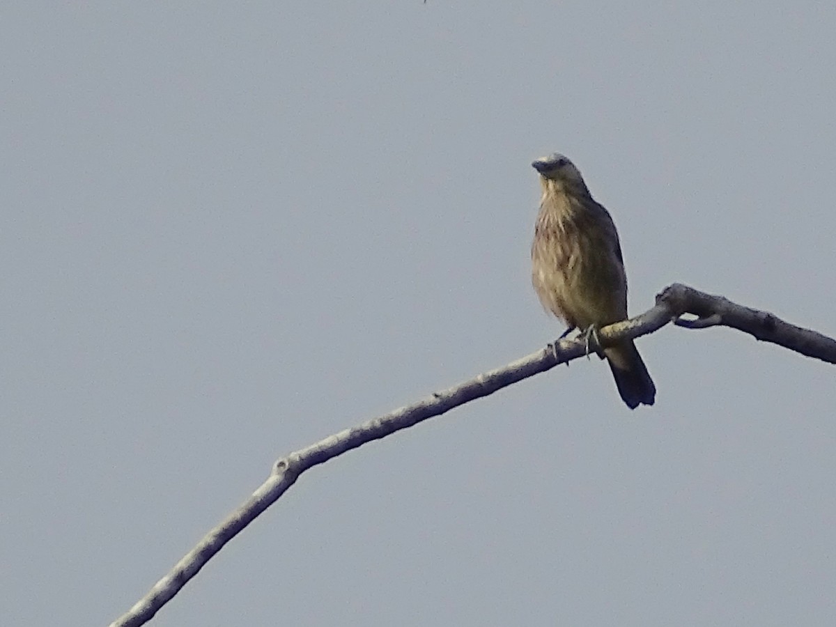
{"type": "MultiPolygon", "coordinates": [[[[779,344],[798,353],[836,363],[836,340],[802,329],[778,319],[772,314],[743,307],[721,296],[712,296],[674,283],[656,297],[655,307],[630,320],[610,324],[599,330],[598,341],[591,339],[589,351],[598,352],[619,339],[636,338],[653,333],[669,322],[689,329],[703,329],[724,325],[739,329],[763,341],[779,344]],[[696,320],[682,319],[683,314],[695,315],[696,320]]],[[[558,339],[544,349],[507,364],[497,370],[477,375],[472,380],[436,392],[412,405],[380,415],[361,425],[340,431],[300,451],[276,461],[270,476],[252,493],[241,507],[232,512],[201,539],[200,543],[176,563],[171,572],[160,579],[126,614],[111,627],[145,624],[163,605],[194,577],[215,553],[234,538],[261,512],[276,502],[299,475],[313,466],[329,461],[346,451],[370,441],[389,436],[395,431],[426,421],[468,401],[482,398],[517,383],[532,375],[552,369],[558,364],[587,354],[586,339],[558,339]]]]}

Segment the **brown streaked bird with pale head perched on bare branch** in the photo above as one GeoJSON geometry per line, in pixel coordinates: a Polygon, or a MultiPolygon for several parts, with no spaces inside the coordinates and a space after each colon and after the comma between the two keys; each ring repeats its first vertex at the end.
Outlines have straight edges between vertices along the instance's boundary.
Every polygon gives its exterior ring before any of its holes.
{"type": "MultiPolygon", "coordinates": [[[[613,219],[565,156],[554,153],[532,166],[543,187],[531,245],[532,283],[543,307],[568,330],[592,332],[626,319],[627,278],[613,219]]],[[[610,346],[604,356],[630,409],[653,405],[656,387],[633,340],[610,346]]]]}

